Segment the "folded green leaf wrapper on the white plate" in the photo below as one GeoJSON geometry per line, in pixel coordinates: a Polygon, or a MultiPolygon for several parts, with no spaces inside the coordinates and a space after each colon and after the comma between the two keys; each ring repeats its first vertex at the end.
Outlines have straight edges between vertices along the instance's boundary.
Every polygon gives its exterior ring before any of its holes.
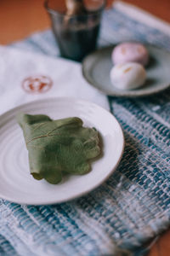
{"type": "Polygon", "coordinates": [[[98,131],[82,127],[77,117],[52,120],[47,115],[20,113],[31,175],[59,183],[64,173],[85,174],[88,160],[100,153],[98,131]]]}

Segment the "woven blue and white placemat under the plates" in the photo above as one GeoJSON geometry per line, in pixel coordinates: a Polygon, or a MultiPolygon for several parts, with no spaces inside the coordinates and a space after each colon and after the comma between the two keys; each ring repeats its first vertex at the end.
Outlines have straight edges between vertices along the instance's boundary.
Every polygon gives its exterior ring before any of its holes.
{"type": "MultiPolygon", "coordinates": [[[[136,39],[170,50],[168,26],[161,25],[118,3],[105,11],[99,44],[136,39]]],[[[59,54],[50,31],[13,47],[53,57],[59,54]]],[[[116,172],[77,201],[33,207],[1,200],[0,255],[139,256],[147,251],[145,242],[168,228],[170,90],[146,98],[108,100],[126,140],[116,172]]]]}

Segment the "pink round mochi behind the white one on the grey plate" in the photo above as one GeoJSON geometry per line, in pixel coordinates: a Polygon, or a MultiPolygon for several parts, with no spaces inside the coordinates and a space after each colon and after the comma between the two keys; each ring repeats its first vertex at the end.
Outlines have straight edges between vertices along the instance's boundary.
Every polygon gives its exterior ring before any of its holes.
{"type": "Polygon", "coordinates": [[[111,59],[114,64],[138,62],[145,66],[149,61],[149,54],[143,44],[122,43],[113,49],[111,59]]]}

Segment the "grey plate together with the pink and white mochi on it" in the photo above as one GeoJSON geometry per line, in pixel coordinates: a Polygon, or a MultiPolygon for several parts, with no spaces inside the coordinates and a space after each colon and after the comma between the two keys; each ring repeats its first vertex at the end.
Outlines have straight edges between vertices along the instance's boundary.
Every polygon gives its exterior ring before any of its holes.
{"type": "Polygon", "coordinates": [[[88,83],[109,96],[150,96],[170,86],[170,52],[150,44],[120,43],[82,61],[88,83]]]}

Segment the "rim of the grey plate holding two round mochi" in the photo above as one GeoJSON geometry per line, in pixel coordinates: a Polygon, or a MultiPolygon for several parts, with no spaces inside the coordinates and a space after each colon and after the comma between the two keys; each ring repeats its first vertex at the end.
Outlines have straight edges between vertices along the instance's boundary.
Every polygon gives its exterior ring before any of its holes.
{"type": "MultiPolygon", "coordinates": [[[[126,41],[127,42],[127,41],[126,41]]],[[[133,43],[141,43],[139,41],[135,41],[135,40],[131,40],[131,41],[128,41],[128,42],[133,42],[133,43]]],[[[169,87],[170,87],[170,79],[169,79],[169,83],[167,84],[161,84],[160,87],[158,87],[157,89],[152,89],[152,90],[145,90],[143,89],[143,92],[140,92],[140,90],[126,90],[123,92],[120,91],[120,92],[114,92],[114,93],[111,93],[111,94],[107,94],[107,92],[105,92],[105,89],[101,89],[98,87],[97,83],[91,79],[91,76],[88,75],[87,73],[87,70],[86,70],[86,62],[88,61],[88,58],[92,57],[93,55],[96,55],[98,54],[98,52],[102,52],[104,50],[107,50],[107,49],[113,49],[113,47],[116,47],[116,45],[118,44],[122,44],[124,43],[124,41],[120,41],[120,42],[117,42],[116,44],[110,44],[108,46],[104,46],[104,47],[101,47],[99,49],[96,49],[94,50],[93,52],[91,52],[89,55],[87,55],[83,60],[82,60],[82,76],[84,79],[86,79],[88,81],[88,83],[90,85],[92,85],[95,89],[99,90],[100,92],[102,92],[103,94],[105,94],[106,96],[119,96],[119,97],[126,97],[126,98],[135,98],[135,97],[143,97],[143,96],[152,96],[152,95],[155,95],[157,94],[158,92],[161,92],[163,90],[167,90],[169,87]]],[[[164,48],[161,48],[160,46],[156,45],[156,44],[147,44],[147,43],[142,43],[144,46],[146,47],[153,47],[153,48],[156,48],[156,49],[161,49],[162,51],[168,53],[168,55],[170,55],[170,51],[167,50],[167,49],[164,49],[164,48]]]]}

